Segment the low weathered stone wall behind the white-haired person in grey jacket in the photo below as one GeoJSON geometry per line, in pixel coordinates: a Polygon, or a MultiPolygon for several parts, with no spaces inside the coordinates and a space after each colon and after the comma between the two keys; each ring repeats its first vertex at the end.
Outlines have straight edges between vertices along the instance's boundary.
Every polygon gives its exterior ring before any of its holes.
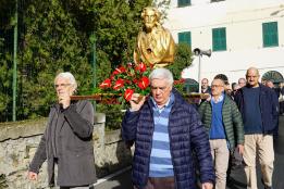
{"type": "MultiPolygon", "coordinates": [[[[94,127],[94,153],[98,177],[131,163],[131,151],[121,140],[120,130],[104,133],[106,115],[97,113],[94,127]]],[[[0,124],[0,189],[48,188],[46,163],[37,182],[26,179],[32,161],[44,134],[47,119],[0,124]]]]}

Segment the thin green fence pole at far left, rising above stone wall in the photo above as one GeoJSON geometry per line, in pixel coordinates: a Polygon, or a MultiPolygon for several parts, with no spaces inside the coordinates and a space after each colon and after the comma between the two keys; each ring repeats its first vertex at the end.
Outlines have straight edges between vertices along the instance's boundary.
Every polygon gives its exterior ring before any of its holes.
{"type": "Polygon", "coordinates": [[[16,77],[17,77],[17,0],[15,0],[14,15],[14,51],[13,51],[13,122],[16,121],[16,77]]]}

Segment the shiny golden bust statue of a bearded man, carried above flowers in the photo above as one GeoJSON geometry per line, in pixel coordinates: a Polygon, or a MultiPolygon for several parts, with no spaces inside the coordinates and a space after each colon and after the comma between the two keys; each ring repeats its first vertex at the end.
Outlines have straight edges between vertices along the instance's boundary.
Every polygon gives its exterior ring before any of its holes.
{"type": "Polygon", "coordinates": [[[137,37],[134,62],[155,67],[166,66],[174,61],[175,43],[171,33],[160,24],[161,14],[156,8],[144,8],[144,28],[137,37]]]}

